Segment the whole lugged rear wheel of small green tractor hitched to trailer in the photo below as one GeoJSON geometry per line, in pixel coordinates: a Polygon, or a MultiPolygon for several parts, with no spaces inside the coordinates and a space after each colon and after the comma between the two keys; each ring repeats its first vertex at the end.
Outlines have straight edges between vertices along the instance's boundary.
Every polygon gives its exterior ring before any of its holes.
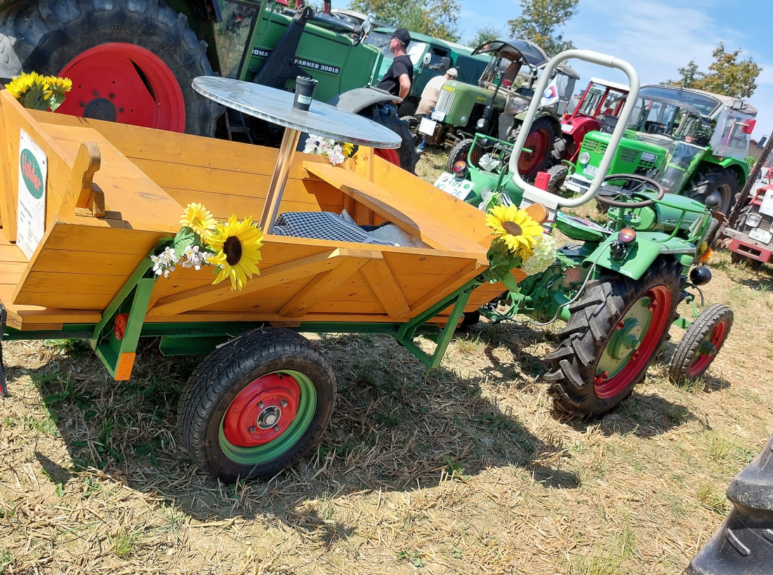
{"type": "Polygon", "coordinates": [[[678,262],[653,264],[641,279],[605,276],[589,282],[570,307],[563,338],[547,359],[548,394],[557,411],[598,418],[642,381],[679,303],[678,262]]]}

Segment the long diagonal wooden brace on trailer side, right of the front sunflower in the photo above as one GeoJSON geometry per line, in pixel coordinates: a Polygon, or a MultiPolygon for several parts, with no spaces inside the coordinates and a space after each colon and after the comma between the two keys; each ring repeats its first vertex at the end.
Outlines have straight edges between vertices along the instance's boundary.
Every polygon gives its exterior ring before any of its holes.
{"type": "Polygon", "coordinates": [[[333,249],[327,253],[310,255],[305,259],[295,262],[288,262],[281,266],[274,266],[261,272],[260,276],[247,282],[247,286],[240,292],[233,292],[230,289],[230,282],[223,282],[217,286],[206,286],[199,289],[192,289],[188,292],[178,293],[174,296],[167,296],[158,300],[158,303],[149,310],[152,315],[169,316],[176,313],[182,313],[191,309],[199,309],[209,303],[231,299],[234,296],[244,295],[246,293],[257,292],[260,289],[266,289],[275,286],[278,283],[295,279],[299,277],[312,276],[326,269],[331,269],[339,265],[338,258],[348,257],[349,252],[345,249],[333,249]]]}

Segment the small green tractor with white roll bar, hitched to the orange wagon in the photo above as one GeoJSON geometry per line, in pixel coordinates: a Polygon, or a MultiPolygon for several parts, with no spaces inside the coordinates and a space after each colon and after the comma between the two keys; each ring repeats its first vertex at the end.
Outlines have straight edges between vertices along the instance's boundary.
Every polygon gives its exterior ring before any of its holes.
{"type": "MultiPolygon", "coordinates": [[[[481,313],[494,321],[523,315],[538,325],[566,322],[558,332],[560,343],[547,356],[549,394],[559,411],[598,417],[624,401],[644,379],[673,323],[685,328],[686,334],[676,346],[671,377],[676,382],[702,377],[730,332],[733,313],[721,304],[707,306],[703,313],[696,306],[696,293],[711,279],[709,269],[700,265],[699,246],[715,217],[716,198],[709,199],[712,208],[707,208],[700,201],[666,193],[660,184],[642,175],[605,177],[628,117],[635,111],[635,70],[619,59],[584,50],[562,52],[547,69],[569,57],[622,69],[630,79],[632,99],[610,134],[598,172],[579,198],[536,188],[519,174],[519,155],[539,103],[530,105],[524,131],[514,147],[502,147],[499,161],[506,164],[492,195],[503,204],[544,205],[548,211],[545,225],[550,225],[551,232],[557,229],[570,243],[557,250],[556,259],[545,271],[519,283],[506,278],[509,292],[481,313]],[[509,180],[517,193],[506,190],[503,181],[509,180]],[[600,188],[606,193],[597,196],[600,188]],[[608,206],[604,222],[560,211],[594,198],[608,206]],[[690,303],[693,320],[679,318],[676,307],[680,302],[690,303]]],[[[537,90],[544,89],[547,81],[543,78],[537,90]]],[[[479,200],[465,197],[463,190],[455,195],[474,204],[479,200]]]]}

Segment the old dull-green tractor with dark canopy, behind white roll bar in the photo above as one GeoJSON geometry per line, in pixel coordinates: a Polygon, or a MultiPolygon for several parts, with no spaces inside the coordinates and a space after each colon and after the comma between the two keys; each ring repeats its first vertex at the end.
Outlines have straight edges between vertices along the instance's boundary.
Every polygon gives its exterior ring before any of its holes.
{"type": "MultiPolygon", "coordinates": [[[[467,157],[477,134],[514,141],[523,123],[524,112],[543,92],[534,90],[536,79],[547,63],[544,50],[527,40],[496,40],[479,46],[475,55],[489,58],[476,83],[461,79],[444,83],[430,118],[419,125],[427,144],[450,147],[447,171],[467,157]]],[[[519,161],[519,171],[527,179],[551,163],[553,146],[561,134],[560,115],[569,103],[580,76],[561,65],[550,74],[555,96],[545,100],[526,143],[528,153],[519,161]]]]}

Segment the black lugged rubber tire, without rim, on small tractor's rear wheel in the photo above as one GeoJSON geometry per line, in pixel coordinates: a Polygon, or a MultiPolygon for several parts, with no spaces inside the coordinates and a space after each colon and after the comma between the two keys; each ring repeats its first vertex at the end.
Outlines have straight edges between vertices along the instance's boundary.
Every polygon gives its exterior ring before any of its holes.
{"type": "Polygon", "coordinates": [[[584,296],[570,306],[567,326],[560,330],[557,349],[547,355],[552,370],[545,376],[550,381],[548,394],[556,411],[577,418],[598,418],[618,407],[642,381],[647,368],[657,355],[676,319],[679,303],[679,273],[676,261],[655,262],[641,279],[605,276],[588,282],[584,296]],[[642,367],[633,374],[618,394],[602,399],[594,388],[596,367],[611,333],[628,309],[655,286],[665,286],[671,293],[671,309],[655,350],[644,358],[642,367]]]}

